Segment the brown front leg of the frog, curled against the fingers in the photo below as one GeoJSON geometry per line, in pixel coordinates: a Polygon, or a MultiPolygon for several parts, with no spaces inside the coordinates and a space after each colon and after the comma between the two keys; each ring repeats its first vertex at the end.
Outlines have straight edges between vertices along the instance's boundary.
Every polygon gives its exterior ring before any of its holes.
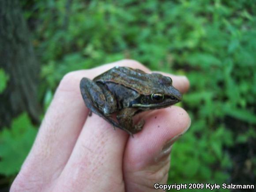
{"type": "Polygon", "coordinates": [[[136,114],[137,111],[138,109],[135,108],[124,108],[117,112],[117,120],[120,126],[130,135],[141,131],[143,125],[145,124],[144,120],[140,120],[138,124],[133,124],[132,117],[136,114]]]}

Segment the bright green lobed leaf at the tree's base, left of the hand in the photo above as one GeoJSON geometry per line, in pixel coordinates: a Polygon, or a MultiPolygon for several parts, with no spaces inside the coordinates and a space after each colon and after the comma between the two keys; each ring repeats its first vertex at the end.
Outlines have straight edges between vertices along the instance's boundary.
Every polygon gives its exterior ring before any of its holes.
{"type": "Polygon", "coordinates": [[[12,120],[11,128],[0,132],[0,174],[10,176],[19,172],[36,133],[26,113],[12,120]]]}

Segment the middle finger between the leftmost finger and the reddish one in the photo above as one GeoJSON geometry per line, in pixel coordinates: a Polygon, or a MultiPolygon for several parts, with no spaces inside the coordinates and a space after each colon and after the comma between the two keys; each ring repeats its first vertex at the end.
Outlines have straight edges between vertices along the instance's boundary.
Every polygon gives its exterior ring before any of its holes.
{"type": "Polygon", "coordinates": [[[97,115],[88,117],[53,191],[74,186],[75,191],[124,191],[122,158],[127,138],[127,133],[113,130],[97,115]]]}

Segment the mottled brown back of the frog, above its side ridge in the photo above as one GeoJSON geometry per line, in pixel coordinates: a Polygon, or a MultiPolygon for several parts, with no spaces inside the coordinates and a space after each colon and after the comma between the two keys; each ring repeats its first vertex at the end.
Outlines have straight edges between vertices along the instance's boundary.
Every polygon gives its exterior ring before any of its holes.
{"type": "Polygon", "coordinates": [[[161,81],[164,77],[160,74],[148,74],[139,69],[128,67],[114,67],[109,71],[94,78],[94,81],[101,83],[117,83],[125,87],[136,90],[139,93],[148,94],[161,89],[161,81]]]}

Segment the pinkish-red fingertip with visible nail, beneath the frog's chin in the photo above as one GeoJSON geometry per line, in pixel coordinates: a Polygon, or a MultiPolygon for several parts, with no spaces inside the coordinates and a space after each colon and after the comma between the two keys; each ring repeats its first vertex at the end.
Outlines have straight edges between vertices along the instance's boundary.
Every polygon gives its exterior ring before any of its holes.
{"type": "Polygon", "coordinates": [[[177,106],[144,117],[142,132],[129,139],[124,153],[126,191],[154,191],[154,183],[166,183],[171,146],[190,126],[188,114],[177,106]]]}

